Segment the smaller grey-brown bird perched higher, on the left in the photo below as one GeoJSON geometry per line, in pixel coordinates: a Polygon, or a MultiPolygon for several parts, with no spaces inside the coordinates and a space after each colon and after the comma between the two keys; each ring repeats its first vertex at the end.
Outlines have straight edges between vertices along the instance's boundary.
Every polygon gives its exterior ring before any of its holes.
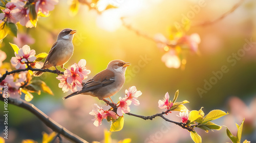
{"type": "MultiPolygon", "coordinates": [[[[56,42],[52,45],[51,50],[45,60],[44,65],[41,69],[50,68],[52,66],[57,70],[57,74],[60,74],[60,71],[56,68],[56,66],[60,66],[63,69],[67,69],[64,67],[64,64],[69,61],[74,52],[74,45],[72,43],[74,34],[76,30],[72,30],[70,28],[63,29],[57,37],[56,42]]],[[[42,71],[37,71],[34,76],[39,77],[43,74],[42,71]]]]}

